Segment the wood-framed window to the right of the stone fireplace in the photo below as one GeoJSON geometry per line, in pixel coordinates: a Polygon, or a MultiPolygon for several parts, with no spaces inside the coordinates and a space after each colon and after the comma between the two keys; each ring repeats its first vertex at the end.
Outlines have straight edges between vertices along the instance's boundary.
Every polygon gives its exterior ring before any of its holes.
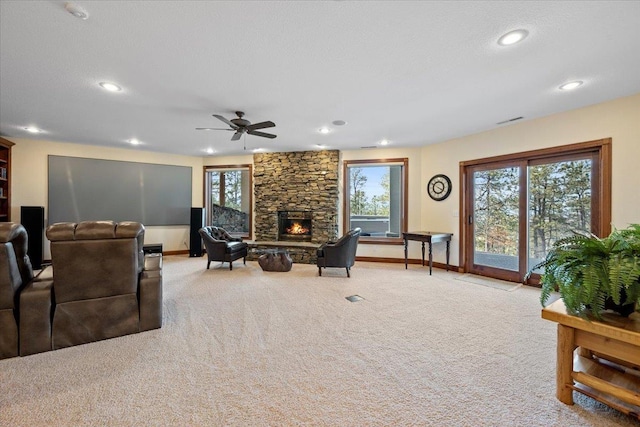
{"type": "Polygon", "coordinates": [[[344,162],[343,229],[362,243],[401,243],[407,231],[408,159],[344,162]]]}

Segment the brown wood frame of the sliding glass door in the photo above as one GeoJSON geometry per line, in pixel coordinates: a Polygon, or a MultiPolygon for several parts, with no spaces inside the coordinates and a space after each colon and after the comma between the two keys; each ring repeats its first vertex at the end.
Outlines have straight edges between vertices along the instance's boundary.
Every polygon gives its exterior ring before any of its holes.
{"type": "MultiPolygon", "coordinates": [[[[460,246],[459,246],[459,259],[461,260],[461,270],[463,272],[470,272],[473,266],[473,251],[470,248],[473,247],[473,235],[471,233],[471,227],[468,223],[468,218],[472,214],[473,207],[473,187],[471,186],[470,175],[473,174],[473,169],[478,166],[491,167],[492,165],[506,165],[514,163],[526,163],[528,164],[533,160],[551,159],[560,156],[571,156],[578,154],[593,154],[595,161],[592,169],[592,186],[597,184],[597,191],[592,193],[592,198],[595,203],[592,202],[592,206],[596,209],[592,210],[592,227],[593,232],[597,236],[603,237],[611,233],[611,172],[612,172],[612,140],[611,138],[603,138],[593,141],[579,142],[576,144],[562,145],[551,148],[543,148],[532,151],[524,151],[514,154],[506,154],[495,157],[486,157],[475,160],[468,160],[460,162],[460,246]]],[[[520,174],[520,184],[526,186],[526,174],[520,174]]],[[[524,187],[522,187],[524,188],[524,187]]],[[[522,194],[520,197],[526,197],[522,194]]],[[[524,204],[526,205],[526,204],[524,204]]],[[[520,204],[519,214],[522,218],[526,216],[526,211],[523,212],[523,204],[520,204]]],[[[526,222],[520,221],[519,233],[521,236],[526,235],[526,222]]],[[[519,250],[526,252],[527,242],[526,239],[519,239],[519,250]]],[[[521,253],[525,253],[521,252],[521,253]]],[[[520,263],[522,264],[522,263],[520,263]]],[[[520,266],[518,275],[522,277],[525,266],[520,266]]],[[[493,273],[493,272],[488,272],[493,273]]],[[[492,274],[493,277],[493,274],[492,274]]],[[[499,274],[496,278],[514,281],[515,276],[512,274],[499,274]]],[[[517,280],[520,281],[518,277],[517,280]]],[[[529,284],[537,285],[539,277],[533,277],[529,280],[529,284]]]]}

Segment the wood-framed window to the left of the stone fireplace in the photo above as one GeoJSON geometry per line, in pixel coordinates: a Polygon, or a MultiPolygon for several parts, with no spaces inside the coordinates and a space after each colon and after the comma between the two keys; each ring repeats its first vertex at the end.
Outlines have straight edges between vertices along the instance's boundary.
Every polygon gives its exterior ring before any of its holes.
{"type": "Polygon", "coordinates": [[[252,226],[251,165],[205,166],[207,225],[236,236],[248,237],[252,226]]]}

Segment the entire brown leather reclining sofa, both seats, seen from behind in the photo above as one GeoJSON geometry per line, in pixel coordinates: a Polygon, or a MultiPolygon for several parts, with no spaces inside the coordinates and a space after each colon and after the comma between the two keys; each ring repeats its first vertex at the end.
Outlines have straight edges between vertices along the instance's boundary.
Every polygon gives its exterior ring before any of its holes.
{"type": "Polygon", "coordinates": [[[47,237],[53,269],[33,277],[26,230],[0,223],[0,359],[162,326],[162,255],[144,255],[142,224],[59,223],[47,237]]]}

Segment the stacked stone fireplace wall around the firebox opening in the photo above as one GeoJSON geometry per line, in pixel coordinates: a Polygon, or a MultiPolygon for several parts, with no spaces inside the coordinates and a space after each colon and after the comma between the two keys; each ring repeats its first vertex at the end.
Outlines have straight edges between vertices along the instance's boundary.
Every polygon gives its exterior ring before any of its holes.
{"type": "Polygon", "coordinates": [[[338,150],[253,155],[255,240],[275,241],[278,211],[313,211],[312,243],[338,238],[338,150]]]}

